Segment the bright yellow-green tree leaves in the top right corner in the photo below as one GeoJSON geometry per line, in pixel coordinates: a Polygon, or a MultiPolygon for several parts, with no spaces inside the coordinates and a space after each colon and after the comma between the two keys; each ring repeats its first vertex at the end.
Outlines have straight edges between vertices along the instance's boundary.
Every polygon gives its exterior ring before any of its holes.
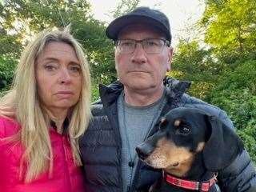
{"type": "MultiPolygon", "coordinates": [[[[256,48],[256,9],[251,0],[205,0],[201,24],[206,28],[205,42],[225,62],[251,54],[256,48]]],[[[254,57],[255,58],[255,57],[254,57]]]]}

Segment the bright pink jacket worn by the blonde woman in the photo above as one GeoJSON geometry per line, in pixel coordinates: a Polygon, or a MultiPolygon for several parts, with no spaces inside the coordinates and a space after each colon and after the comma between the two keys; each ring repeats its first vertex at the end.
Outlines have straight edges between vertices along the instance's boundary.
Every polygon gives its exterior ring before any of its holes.
{"type": "Polygon", "coordinates": [[[83,175],[75,166],[70,144],[66,136],[50,129],[50,139],[54,154],[53,177],[48,171],[42,173],[33,182],[25,184],[20,181],[19,162],[24,149],[21,145],[13,145],[2,138],[18,132],[18,122],[0,117],[0,191],[1,192],[84,192],[83,175]]]}

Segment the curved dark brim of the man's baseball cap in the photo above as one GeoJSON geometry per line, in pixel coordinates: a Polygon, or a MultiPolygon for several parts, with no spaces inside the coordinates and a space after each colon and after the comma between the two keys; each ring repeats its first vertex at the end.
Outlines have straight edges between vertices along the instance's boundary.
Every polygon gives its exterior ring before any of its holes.
{"type": "Polygon", "coordinates": [[[162,33],[166,35],[166,39],[170,41],[170,31],[166,31],[166,26],[158,20],[144,15],[124,15],[120,18],[116,18],[113,22],[110,22],[110,25],[106,28],[106,36],[110,39],[116,40],[118,39],[119,32],[124,27],[137,23],[157,27],[158,30],[162,31],[162,33]]]}

